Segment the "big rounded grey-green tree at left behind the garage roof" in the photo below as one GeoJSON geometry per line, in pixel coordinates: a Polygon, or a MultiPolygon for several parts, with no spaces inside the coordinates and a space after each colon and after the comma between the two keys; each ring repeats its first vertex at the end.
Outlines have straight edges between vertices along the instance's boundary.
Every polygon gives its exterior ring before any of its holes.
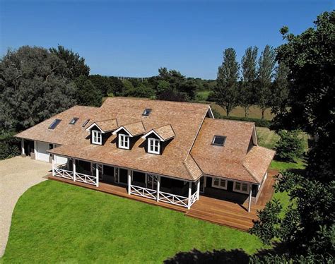
{"type": "Polygon", "coordinates": [[[0,61],[0,132],[20,131],[76,104],[66,62],[41,47],[8,50],[0,61]]]}

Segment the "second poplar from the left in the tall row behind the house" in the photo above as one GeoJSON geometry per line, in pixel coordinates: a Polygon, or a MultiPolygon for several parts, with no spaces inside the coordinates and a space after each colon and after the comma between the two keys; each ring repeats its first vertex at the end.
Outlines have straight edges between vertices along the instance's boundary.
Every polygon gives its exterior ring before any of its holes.
{"type": "Polygon", "coordinates": [[[242,57],[242,80],[240,83],[239,104],[245,109],[245,117],[254,102],[254,91],[257,80],[257,47],[248,47],[242,57]]]}

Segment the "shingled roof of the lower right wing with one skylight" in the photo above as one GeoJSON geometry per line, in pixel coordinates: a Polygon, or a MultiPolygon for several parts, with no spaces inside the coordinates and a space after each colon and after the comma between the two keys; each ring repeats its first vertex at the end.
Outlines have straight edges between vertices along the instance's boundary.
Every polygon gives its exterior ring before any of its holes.
{"type": "Polygon", "coordinates": [[[274,151],[268,150],[263,159],[264,148],[252,146],[247,154],[252,133],[251,122],[206,118],[192,148],[192,157],[204,174],[259,184],[274,151]],[[225,136],[225,144],[211,145],[214,136],[225,136]]]}

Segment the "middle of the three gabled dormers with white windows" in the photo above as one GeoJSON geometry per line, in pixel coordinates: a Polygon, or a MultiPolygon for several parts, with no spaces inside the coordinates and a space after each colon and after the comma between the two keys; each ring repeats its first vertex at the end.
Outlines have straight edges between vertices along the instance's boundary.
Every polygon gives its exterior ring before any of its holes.
{"type": "Polygon", "coordinates": [[[131,150],[136,140],[138,140],[145,131],[146,128],[144,128],[142,121],[120,126],[113,132],[113,135],[117,136],[117,148],[131,150]]]}

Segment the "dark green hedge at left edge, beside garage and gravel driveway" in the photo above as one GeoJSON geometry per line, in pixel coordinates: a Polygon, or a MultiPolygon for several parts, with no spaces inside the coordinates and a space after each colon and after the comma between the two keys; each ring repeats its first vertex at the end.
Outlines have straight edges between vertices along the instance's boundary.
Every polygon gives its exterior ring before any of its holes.
{"type": "Polygon", "coordinates": [[[15,133],[0,135],[0,160],[20,155],[20,140],[13,137],[15,133]]]}

